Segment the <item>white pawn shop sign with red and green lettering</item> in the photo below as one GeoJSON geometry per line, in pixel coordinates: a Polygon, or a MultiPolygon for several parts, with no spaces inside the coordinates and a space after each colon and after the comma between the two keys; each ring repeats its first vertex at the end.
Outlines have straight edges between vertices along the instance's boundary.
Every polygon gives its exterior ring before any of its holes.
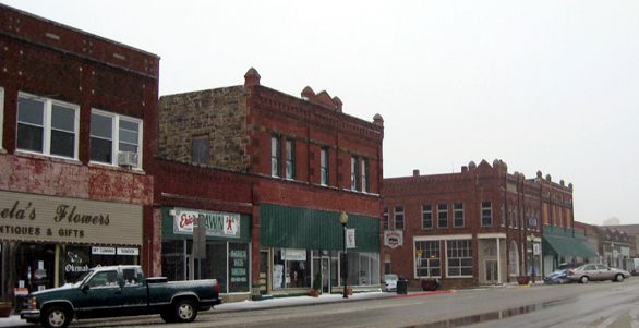
{"type": "Polygon", "coordinates": [[[195,219],[204,221],[206,235],[240,238],[240,215],[221,211],[206,211],[176,208],[173,215],[173,233],[193,234],[195,219]]]}

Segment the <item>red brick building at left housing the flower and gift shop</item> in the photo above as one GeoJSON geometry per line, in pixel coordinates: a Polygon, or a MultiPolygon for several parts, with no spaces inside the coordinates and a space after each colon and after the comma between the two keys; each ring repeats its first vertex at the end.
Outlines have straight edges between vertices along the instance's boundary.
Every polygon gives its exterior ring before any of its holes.
{"type": "Polygon", "coordinates": [[[159,58],[3,4],[0,21],[2,299],[142,263],[159,58]]]}

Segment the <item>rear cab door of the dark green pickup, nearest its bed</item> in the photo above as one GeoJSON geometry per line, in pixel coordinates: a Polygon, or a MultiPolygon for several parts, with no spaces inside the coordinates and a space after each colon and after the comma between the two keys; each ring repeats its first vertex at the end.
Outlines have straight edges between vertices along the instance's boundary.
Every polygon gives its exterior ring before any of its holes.
{"type": "Polygon", "coordinates": [[[122,268],[122,311],[143,314],[147,311],[147,289],[138,267],[122,268]]]}

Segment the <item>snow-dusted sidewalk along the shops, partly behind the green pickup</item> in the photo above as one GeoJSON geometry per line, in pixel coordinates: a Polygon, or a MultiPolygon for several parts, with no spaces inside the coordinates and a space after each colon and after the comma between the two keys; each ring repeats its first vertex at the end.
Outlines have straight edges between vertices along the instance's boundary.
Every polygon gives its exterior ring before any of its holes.
{"type": "MultiPolygon", "coordinates": [[[[350,295],[348,299],[343,299],[341,294],[323,294],[319,297],[311,297],[311,296],[293,296],[293,297],[274,297],[263,301],[244,301],[244,302],[234,302],[234,303],[225,303],[215,306],[213,311],[203,312],[203,315],[206,314],[216,314],[216,313],[232,313],[232,312],[245,312],[245,311],[256,311],[256,309],[269,309],[269,308],[279,308],[279,307],[296,307],[296,306],[312,306],[312,305],[319,305],[319,304],[330,304],[330,303],[346,303],[346,302],[358,302],[358,301],[369,301],[369,300],[381,300],[381,299],[395,299],[395,297],[414,297],[414,296],[427,296],[427,295],[438,295],[438,294],[448,294],[454,293],[454,290],[443,290],[436,292],[409,292],[406,295],[398,295],[395,292],[363,292],[363,293],[354,293],[350,295]]],[[[141,318],[138,317],[121,317],[121,318],[109,318],[109,320],[130,320],[141,318]]],[[[92,320],[105,320],[103,319],[87,319],[83,321],[92,321],[92,320]]],[[[39,327],[38,325],[27,324],[25,320],[20,319],[20,315],[12,315],[8,318],[0,318],[0,327],[39,327]]]]}

